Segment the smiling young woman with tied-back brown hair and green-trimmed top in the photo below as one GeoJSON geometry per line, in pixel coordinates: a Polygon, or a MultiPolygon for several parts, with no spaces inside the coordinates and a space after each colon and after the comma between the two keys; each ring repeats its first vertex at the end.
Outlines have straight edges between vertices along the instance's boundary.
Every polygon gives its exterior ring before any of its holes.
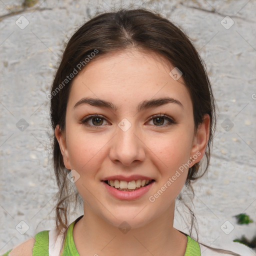
{"type": "Polygon", "coordinates": [[[145,9],[95,16],[67,43],[48,97],[56,228],[6,255],[238,255],[173,227],[215,125],[207,74],[179,28],[145,9]],[[79,198],[84,214],[68,224],[79,198]]]}

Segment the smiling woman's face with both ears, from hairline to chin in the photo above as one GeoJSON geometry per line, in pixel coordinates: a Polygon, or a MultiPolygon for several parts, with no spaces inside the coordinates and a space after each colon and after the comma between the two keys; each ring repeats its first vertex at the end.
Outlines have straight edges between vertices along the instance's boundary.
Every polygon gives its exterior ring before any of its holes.
{"type": "Polygon", "coordinates": [[[203,155],[207,127],[194,133],[189,92],[172,68],[159,55],[125,50],[88,63],[73,79],[65,131],[55,134],[84,210],[115,226],[170,214],[188,166],[203,155]],[[153,181],[135,191],[112,186],[134,189],[144,179],[153,181]]]}

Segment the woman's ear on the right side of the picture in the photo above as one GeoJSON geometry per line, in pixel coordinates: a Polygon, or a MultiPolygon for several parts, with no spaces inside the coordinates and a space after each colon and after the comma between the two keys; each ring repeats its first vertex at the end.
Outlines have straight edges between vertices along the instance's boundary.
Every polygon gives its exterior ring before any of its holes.
{"type": "Polygon", "coordinates": [[[194,134],[192,148],[190,151],[189,167],[192,167],[196,162],[200,161],[204,155],[209,139],[209,124],[210,117],[208,114],[204,114],[202,123],[198,125],[194,134]]]}

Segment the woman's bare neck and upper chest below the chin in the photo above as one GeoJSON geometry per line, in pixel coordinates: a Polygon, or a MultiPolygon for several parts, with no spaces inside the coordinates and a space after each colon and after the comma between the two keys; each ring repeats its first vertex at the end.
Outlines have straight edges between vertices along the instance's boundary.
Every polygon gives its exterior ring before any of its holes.
{"type": "Polygon", "coordinates": [[[186,236],[173,227],[174,203],[151,222],[136,228],[126,221],[115,226],[93,213],[87,205],[84,213],[73,229],[80,256],[184,255],[186,236]]]}

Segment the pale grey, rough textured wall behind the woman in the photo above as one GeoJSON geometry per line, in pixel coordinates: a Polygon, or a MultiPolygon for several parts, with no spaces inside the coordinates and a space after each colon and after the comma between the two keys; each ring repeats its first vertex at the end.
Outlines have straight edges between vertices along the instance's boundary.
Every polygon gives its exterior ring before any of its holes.
{"type": "MultiPolygon", "coordinates": [[[[96,11],[143,6],[193,40],[216,98],[211,164],[194,183],[199,239],[256,255],[232,243],[256,233],[256,1],[39,0],[25,9],[22,2],[0,0],[0,253],[54,224],[46,95],[63,42],[96,11]],[[242,212],[254,223],[238,225],[233,216],[242,212]]],[[[178,216],[174,223],[187,231],[178,216]]]]}

